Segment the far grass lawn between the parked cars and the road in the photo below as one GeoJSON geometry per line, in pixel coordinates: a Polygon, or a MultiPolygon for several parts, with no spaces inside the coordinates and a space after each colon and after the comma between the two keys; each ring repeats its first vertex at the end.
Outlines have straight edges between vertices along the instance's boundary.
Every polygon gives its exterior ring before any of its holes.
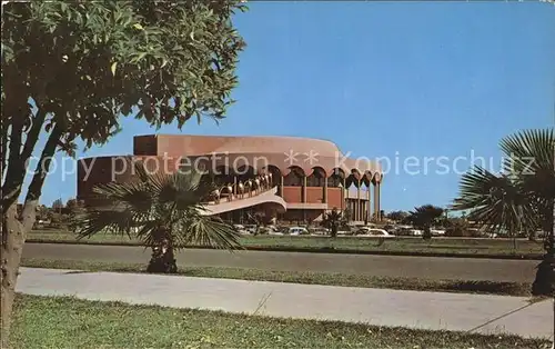
{"type": "MultiPolygon", "coordinates": [[[[28,240],[34,241],[75,241],[75,235],[68,231],[34,230],[28,235],[28,240]]],[[[139,243],[127,236],[99,233],[83,243],[139,243]]],[[[340,237],[286,237],[286,236],[256,236],[242,237],[241,243],[245,247],[269,249],[337,249],[345,251],[375,251],[404,253],[454,253],[454,255],[490,255],[490,256],[524,256],[539,257],[543,255],[542,243],[519,240],[517,249],[513,241],[505,239],[465,239],[436,238],[424,241],[422,238],[387,239],[383,243],[375,238],[340,237]]]]}

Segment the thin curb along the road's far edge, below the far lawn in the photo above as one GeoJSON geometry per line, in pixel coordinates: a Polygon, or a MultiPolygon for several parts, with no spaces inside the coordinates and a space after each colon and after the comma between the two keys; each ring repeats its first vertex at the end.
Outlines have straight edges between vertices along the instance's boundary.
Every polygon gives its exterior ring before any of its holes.
{"type": "MultiPolygon", "coordinates": [[[[137,242],[100,242],[100,241],[75,241],[75,240],[41,240],[27,239],[26,243],[52,243],[52,245],[84,245],[84,246],[115,246],[115,247],[143,247],[137,242]]],[[[188,249],[214,248],[208,246],[190,246],[188,249]]],[[[299,253],[333,253],[333,255],[367,255],[367,256],[398,256],[398,257],[437,257],[437,258],[475,258],[475,259],[504,259],[504,260],[542,260],[542,255],[487,255],[487,253],[448,253],[448,252],[403,252],[403,251],[365,251],[335,248],[296,248],[296,247],[263,247],[245,246],[248,251],[273,251],[273,252],[299,252],[299,253]]]]}

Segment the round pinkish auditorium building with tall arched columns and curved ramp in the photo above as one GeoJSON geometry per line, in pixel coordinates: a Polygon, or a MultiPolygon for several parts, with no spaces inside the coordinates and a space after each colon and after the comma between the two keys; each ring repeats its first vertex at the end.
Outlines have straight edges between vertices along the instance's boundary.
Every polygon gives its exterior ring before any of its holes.
{"type": "Polygon", "coordinates": [[[133,161],[151,171],[204,171],[219,185],[206,207],[235,222],[254,211],[292,222],[320,220],[333,209],[351,221],[382,217],[379,163],[346,158],[331,141],[297,137],[137,136],[133,154],[79,161],[78,199],[101,205],[92,188],[133,180],[133,161]]]}

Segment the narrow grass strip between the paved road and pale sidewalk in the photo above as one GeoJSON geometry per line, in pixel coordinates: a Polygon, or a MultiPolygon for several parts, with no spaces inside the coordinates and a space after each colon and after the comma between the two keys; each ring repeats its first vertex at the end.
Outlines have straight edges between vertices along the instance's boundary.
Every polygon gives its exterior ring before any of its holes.
{"type": "MultiPolygon", "coordinates": [[[[88,271],[144,272],[144,265],[109,263],[95,261],[23,259],[21,265],[34,268],[73,269],[88,271]]],[[[427,280],[417,278],[389,278],[364,275],[272,271],[246,268],[190,267],[179,270],[189,277],[295,282],[309,285],[389,288],[398,290],[491,293],[528,297],[531,285],[519,282],[427,280]]]]}

